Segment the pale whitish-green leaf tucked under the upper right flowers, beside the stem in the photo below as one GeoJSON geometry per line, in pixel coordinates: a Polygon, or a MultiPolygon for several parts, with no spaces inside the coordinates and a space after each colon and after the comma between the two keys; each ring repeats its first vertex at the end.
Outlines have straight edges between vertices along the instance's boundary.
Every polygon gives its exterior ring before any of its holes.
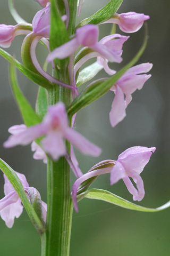
{"type": "Polygon", "coordinates": [[[101,69],[103,69],[103,66],[99,65],[96,61],[90,66],[81,70],[78,76],[78,81],[76,83],[77,86],[80,86],[81,84],[86,83],[90,79],[94,78],[101,69]]]}

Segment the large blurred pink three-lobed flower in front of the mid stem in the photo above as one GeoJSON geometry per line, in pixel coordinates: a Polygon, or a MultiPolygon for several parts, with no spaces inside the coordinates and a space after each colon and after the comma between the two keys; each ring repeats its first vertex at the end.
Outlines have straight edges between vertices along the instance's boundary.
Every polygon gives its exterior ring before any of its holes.
{"type": "Polygon", "coordinates": [[[46,135],[46,137],[41,141],[41,145],[44,151],[54,160],[67,155],[63,139],[73,143],[85,155],[99,156],[101,153],[100,148],[69,127],[65,105],[62,102],[48,108],[48,113],[42,123],[28,127],[27,130],[21,133],[11,135],[4,142],[4,147],[28,145],[43,135],[46,135]]]}

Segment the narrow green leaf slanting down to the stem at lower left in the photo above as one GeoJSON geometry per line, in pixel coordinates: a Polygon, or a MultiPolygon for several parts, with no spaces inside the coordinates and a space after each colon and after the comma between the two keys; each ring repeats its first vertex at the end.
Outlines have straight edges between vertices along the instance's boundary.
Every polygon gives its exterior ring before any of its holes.
{"type": "Polygon", "coordinates": [[[3,173],[6,175],[7,179],[10,181],[12,186],[14,187],[16,193],[19,195],[33,226],[36,228],[39,234],[43,233],[45,231],[44,225],[38,218],[38,215],[33,209],[32,205],[30,204],[20,179],[18,178],[14,170],[7,163],[5,163],[1,158],[0,158],[0,168],[3,171],[3,173]]]}

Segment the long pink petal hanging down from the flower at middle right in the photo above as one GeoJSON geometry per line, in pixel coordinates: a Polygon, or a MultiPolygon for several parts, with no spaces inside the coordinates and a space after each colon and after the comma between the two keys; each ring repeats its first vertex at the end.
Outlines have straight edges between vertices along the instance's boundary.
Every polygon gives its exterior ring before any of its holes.
{"type": "Polygon", "coordinates": [[[112,127],[120,123],[126,116],[125,101],[123,91],[119,86],[116,86],[115,97],[112,103],[111,112],[109,113],[109,119],[112,127]]]}

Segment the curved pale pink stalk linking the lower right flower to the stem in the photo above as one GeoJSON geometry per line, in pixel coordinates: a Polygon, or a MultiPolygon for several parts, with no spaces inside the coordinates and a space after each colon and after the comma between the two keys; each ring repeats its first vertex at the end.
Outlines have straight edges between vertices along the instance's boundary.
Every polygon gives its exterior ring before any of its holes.
{"type": "Polygon", "coordinates": [[[72,189],[72,199],[73,199],[73,205],[74,205],[75,211],[78,212],[77,191],[78,191],[80,184],[83,181],[88,180],[92,177],[98,176],[100,174],[109,173],[109,172],[111,172],[111,170],[112,170],[111,167],[106,167],[106,168],[101,168],[101,169],[98,169],[95,171],[87,172],[86,174],[82,175],[79,179],[77,179],[74,182],[73,189],[72,189]]]}

